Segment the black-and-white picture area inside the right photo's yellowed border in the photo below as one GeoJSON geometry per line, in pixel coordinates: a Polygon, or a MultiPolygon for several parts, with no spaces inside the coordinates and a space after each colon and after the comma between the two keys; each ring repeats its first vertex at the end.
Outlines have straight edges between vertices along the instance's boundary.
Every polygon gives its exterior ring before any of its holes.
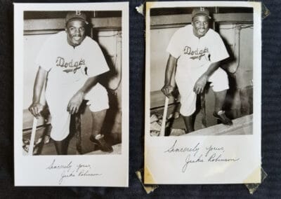
{"type": "Polygon", "coordinates": [[[253,32],[253,8],[150,10],[151,136],[253,133],[253,32]]]}

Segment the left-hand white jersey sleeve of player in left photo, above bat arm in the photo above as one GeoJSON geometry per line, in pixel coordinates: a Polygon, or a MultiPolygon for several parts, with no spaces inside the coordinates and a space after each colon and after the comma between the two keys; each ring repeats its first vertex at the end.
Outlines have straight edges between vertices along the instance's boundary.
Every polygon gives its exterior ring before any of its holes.
{"type": "Polygon", "coordinates": [[[41,49],[39,50],[39,53],[37,54],[37,57],[35,59],[35,64],[37,64],[37,67],[41,67],[42,69],[45,69],[46,71],[49,71],[51,69],[51,67],[53,66],[52,45],[53,45],[53,42],[51,42],[51,37],[50,37],[41,46],[41,49]]]}

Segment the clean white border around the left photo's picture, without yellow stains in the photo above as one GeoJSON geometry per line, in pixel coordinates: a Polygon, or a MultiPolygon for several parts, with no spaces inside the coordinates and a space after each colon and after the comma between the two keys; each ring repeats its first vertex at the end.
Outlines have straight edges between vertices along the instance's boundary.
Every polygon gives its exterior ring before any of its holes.
{"type": "Polygon", "coordinates": [[[14,4],[14,172],[15,186],[129,186],[129,2],[14,4]],[[117,155],[23,156],[22,82],[24,11],[122,11],[122,152],[117,155]],[[89,165],[96,176],[65,177],[58,165],[89,165]],[[114,166],[113,166],[114,165],[114,166]]]}

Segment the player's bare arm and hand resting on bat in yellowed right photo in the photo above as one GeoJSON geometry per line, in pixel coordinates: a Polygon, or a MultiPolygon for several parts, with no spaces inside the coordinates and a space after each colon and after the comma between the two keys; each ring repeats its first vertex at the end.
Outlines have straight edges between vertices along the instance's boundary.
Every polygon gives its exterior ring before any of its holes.
{"type": "Polygon", "coordinates": [[[166,97],[170,97],[171,91],[174,89],[171,86],[171,76],[172,76],[172,74],[174,72],[174,69],[176,67],[176,61],[177,61],[177,59],[175,57],[173,57],[172,55],[169,55],[169,59],[168,59],[168,62],[166,64],[164,86],[161,89],[162,92],[164,93],[164,95],[166,95],[166,97]]]}

